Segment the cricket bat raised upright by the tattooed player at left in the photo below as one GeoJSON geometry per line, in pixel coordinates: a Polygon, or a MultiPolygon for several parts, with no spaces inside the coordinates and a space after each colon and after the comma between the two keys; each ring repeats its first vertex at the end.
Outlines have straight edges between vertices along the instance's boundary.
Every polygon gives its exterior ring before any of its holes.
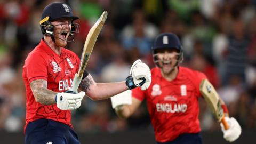
{"type": "Polygon", "coordinates": [[[104,25],[104,22],[107,19],[107,16],[108,16],[108,12],[104,11],[101,14],[100,18],[97,20],[97,22],[92,26],[92,28],[90,29],[90,31],[85,39],[83,53],[82,53],[81,61],[80,61],[80,65],[79,65],[79,70],[75,74],[75,77],[73,80],[73,87],[71,89],[71,91],[73,91],[73,92],[77,92],[78,86],[82,81],[83,73],[84,73],[85,67],[87,65],[87,62],[90,58],[90,55],[92,53],[93,46],[100,34],[100,31],[104,25]]]}

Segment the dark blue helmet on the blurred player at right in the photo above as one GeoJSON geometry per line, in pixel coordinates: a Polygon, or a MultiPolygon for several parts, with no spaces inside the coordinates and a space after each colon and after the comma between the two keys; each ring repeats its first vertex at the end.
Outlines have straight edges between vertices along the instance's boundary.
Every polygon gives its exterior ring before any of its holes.
{"type": "MultiPolygon", "coordinates": [[[[177,49],[179,51],[178,63],[183,61],[183,48],[180,43],[180,39],[173,33],[159,34],[153,43],[152,52],[155,64],[159,67],[157,51],[158,49],[177,49]]],[[[178,65],[177,63],[177,65],[178,65]]]]}

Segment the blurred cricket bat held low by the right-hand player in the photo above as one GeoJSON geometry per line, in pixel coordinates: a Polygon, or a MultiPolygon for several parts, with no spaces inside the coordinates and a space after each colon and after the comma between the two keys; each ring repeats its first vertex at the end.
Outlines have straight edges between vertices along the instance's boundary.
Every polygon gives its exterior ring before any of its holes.
{"type": "Polygon", "coordinates": [[[229,128],[229,125],[225,119],[223,109],[221,107],[219,94],[216,92],[212,84],[207,80],[203,79],[200,85],[200,92],[202,93],[207,105],[210,107],[215,118],[223,124],[225,129],[229,128]]]}

